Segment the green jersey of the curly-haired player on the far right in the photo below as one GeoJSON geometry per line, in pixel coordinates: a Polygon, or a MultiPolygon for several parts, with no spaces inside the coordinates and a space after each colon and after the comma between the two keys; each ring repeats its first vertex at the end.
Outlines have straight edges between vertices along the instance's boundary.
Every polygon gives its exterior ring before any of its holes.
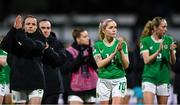
{"type": "MultiPolygon", "coordinates": [[[[170,36],[164,35],[162,38],[163,49],[154,61],[145,64],[144,72],[142,75],[143,81],[148,81],[155,84],[170,83],[170,45],[173,40],[170,36]]],[[[154,54],[160,46],[160,41],[156,41],[152,36],[141,39],[140,53],[145,51],[149,55],[154,54]]]]}

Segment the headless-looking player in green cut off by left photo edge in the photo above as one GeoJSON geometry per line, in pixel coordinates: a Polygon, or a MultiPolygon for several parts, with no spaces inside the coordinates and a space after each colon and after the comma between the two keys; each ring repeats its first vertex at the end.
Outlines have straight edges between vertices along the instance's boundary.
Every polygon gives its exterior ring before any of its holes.
{"type": "MultiPolygon", "coordinates": [[[[0,104],[6,103],[10,98],[9,73],[10,68],[6,62],[7,52],[0,49],[0,104]]],[[[7,104],[7,103],[6,103],[7,104]]]]}

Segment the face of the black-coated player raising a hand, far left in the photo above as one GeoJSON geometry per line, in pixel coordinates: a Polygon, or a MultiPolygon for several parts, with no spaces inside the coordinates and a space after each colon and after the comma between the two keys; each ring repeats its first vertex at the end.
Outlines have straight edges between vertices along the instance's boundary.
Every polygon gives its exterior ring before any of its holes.
{"type": "Polygon", "coordinates": [[[37,20],[32,17],[28,17],[24,22],[24,30],[27,33],[34,33],[37,29],[37,20]]]}

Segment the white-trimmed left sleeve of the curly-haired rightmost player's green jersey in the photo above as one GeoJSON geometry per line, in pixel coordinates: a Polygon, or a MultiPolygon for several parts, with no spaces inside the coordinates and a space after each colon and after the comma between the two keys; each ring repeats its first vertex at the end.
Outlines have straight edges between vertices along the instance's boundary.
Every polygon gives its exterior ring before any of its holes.
{"type": "Polygon", "coordinates": [[[146,40],[146,38],[143,38],[140,40],[140,54],[142,54],[143,52],[149,51],[148,49],[148,41],[146,40]]]}

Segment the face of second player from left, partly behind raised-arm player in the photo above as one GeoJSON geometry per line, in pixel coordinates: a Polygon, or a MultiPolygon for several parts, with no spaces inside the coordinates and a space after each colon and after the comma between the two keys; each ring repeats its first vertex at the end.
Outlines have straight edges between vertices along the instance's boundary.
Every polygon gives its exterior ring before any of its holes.
{"type": "Polygon", "coordinates": [[[39,28],[41,29],[43,35],[48,38],[51,33],[51,23],[49,21],[42,21],[39,23],[39,28]]]}

